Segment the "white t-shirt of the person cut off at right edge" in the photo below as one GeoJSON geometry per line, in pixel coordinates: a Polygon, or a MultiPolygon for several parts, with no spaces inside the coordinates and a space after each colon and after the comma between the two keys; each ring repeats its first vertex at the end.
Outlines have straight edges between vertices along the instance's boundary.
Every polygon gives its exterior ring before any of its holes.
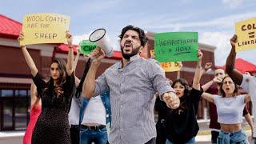
{"type": "MultiPolygon", "coordinates": [[[[250,100],[253,104],[253,115],[256,117],[256,78],[247,74],[243,74],[241,87],[250,95],[250,100]]],[[[256,130],[256,121],[254,120],[254,130],[256,130]]],[[[256,132],[254,131],[254,138],[256,132]]]]}

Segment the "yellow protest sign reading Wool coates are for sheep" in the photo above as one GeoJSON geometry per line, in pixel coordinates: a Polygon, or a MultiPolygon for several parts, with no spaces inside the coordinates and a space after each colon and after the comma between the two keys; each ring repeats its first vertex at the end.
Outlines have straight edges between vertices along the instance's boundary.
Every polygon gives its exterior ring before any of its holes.
{"type": "Polygon", "coordinates": [[[69,30],[70,17],[61,14],[26,14],[23,18],[24,39],[20,45],[38,43],[64,43],[69,30]]]}

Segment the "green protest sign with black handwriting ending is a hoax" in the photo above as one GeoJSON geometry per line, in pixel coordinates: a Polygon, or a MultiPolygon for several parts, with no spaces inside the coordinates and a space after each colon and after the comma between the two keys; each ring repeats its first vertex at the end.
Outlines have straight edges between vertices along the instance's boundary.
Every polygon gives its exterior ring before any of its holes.
{"type": "Polygon", "coordinates": [[[158,62],[198,61],[197,52],[197,32],[170,32],[154,35],[154,53],[158,62]]]}

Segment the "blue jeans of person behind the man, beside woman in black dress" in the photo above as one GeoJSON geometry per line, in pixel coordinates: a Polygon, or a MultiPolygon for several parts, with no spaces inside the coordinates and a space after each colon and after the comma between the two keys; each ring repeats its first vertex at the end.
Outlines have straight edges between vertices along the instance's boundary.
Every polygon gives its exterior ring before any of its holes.
{"type": "Polygon", "coordinates": [[[107,132],[106,127],[102,130],[89,130],[82,129],[80,131],[80,144],[91,144],[91,142],[97,144],[106,144],[107,132]]]}

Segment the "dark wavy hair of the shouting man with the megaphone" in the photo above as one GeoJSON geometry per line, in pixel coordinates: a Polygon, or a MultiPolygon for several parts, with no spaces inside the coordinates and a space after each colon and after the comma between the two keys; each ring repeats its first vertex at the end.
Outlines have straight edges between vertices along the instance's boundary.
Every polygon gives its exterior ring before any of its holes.
{"type": "Polygon", "coordinates": [[[134,30],[138,33],[138,36],[139,36],[139,39],[141,40],[141,44],[142,46],[145,46],[146,45],[146,42],[147,42],[147,38],[146,38],[146,35],[144,33],[144,30],[142,30],[141,28],[138,28],[138,27],[135,27],[135,26],[132,26],[132,25],[128,25],[126,27],[124,27],[122,29],[122,33],[119,35],[119,38],[123,38],[124,34],[126,33],[126,31],[128,30],[134,30]]]}

